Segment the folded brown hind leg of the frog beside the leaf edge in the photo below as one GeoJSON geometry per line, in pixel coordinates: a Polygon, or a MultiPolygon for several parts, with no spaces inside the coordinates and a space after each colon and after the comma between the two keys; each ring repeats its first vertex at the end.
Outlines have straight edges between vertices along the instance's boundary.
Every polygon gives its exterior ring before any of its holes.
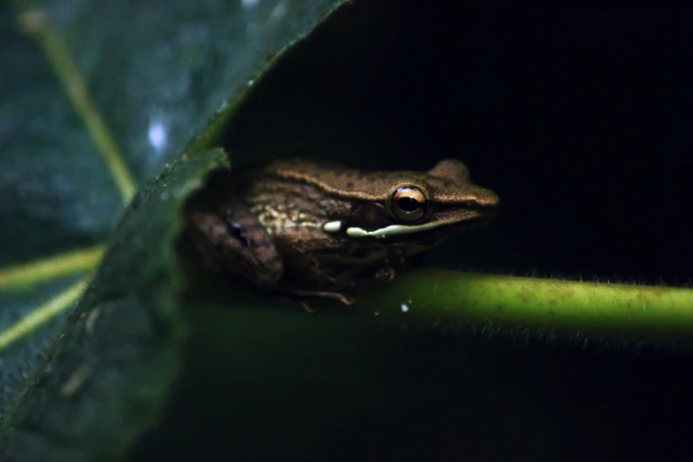
{"type": "Polygon", "coordinates": [[[281,256],[257,217],[239,202],[219,213],[189,213],[189,234],[212,265],[243,276],[261,289],[275,289],[284,266],[281,256]],[[213,255],[211,255],[213,254],[213,255]]]}

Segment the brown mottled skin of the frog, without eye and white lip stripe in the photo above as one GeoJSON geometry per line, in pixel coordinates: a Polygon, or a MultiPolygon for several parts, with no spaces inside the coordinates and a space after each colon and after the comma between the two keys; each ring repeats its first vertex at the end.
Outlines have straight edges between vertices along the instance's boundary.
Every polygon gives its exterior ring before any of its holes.
{"type": "Polygon", "coordinates": [[[367,281],[391,281],[404,259],[430,249],[463,227],[489,221],[498,198],[471,181],[458,160],[428,172],[362,172],[312,158],[285,158],[232,173],[227,188],[189,207],[190,235],[207,263],[243,275],[262,289],[330,296],[367,281]],[[407,222],[391,197],[406,186],[422,191],[425,213],[407,222]],[[328,222],[342,227],[326,231],[328,222]],[[404,225],[409,233],[354,237],[404,225]],[[418,227],[428,225],[429,228],[418,227]],[[440,225],[440,226],[437,226],[440,225]],[[412,232],[415,231],[415,232],[412,232]]]}

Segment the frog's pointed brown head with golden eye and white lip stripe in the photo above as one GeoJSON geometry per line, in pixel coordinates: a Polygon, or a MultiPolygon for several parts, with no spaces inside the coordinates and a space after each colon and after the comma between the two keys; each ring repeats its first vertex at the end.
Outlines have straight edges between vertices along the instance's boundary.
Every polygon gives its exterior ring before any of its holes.
{"type": "Polygon", "coordinates": [[[348,216],[324,224],[327,233],[381,244],[420,241],[432,247],[460,229],[485,225],[499,203],[456,159],[428,172],[316,169],[305,179],[354,204],[348,216]]]}

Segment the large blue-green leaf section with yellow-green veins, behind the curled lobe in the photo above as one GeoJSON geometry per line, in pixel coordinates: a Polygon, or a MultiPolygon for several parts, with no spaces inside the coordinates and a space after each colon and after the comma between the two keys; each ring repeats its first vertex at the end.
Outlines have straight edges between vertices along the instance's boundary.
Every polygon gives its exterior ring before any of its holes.
{"type": "Polygon", "coordinates": [[[99,258],[122,178],[157,173],[329,4],[0,5],[0,408],[56,332],[37,330],[59,311],[51,299],[99,258]]]}

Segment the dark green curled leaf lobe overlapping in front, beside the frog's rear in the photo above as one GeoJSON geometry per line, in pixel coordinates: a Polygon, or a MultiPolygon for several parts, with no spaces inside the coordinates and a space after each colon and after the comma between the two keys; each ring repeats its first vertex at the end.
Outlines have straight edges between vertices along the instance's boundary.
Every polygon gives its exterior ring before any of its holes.
{"type": "Polygon", "coordinates": [[[17,460],[119,460],[159,418],[181,362],[184,281],[174,240],[181,202],[211,169],[210,151],[167,166],[129,205],[60,340],[12,410],[4,451],[17,460]]]}

